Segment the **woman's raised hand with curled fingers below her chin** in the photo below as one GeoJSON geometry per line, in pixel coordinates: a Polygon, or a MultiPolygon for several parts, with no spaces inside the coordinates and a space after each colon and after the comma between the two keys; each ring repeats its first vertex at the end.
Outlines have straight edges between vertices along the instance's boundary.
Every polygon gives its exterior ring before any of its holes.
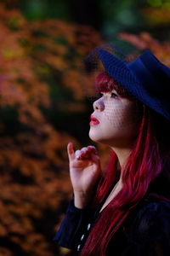
{"type": "Polygon", "coordinates": [[[94,146],[74,152],[72,143],[68,143],[67,152],[75,207],[83,208],[91,200],[94,185],[101,173],[99,155],[94,146]]]}

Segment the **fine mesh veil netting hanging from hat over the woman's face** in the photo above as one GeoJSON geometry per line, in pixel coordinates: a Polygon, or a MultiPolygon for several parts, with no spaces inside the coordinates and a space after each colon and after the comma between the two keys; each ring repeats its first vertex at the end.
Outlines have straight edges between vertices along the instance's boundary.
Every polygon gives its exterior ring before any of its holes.
{"type": "Polygon", "coordinates": [[[99,95],[102,91],[99,91],[95,80],[99,73],[105,72],[105,67],[99,59],[99,49],[116,55],[125,63],[133,61],[136,55],[123,55],[113,44],[105,44],[92,49],[82,60],[80,85],[84,95],[94,105],[94,117],[99,119],[99,125],[94,125],[90,129],[91,137],[98,140],[98,137],[111,139],[111,136],[115,136],[120,140],[135,135],[141,117],[141,104],[118,83],[118,90],[115,90],[116,87],[112,90],[117,96],[111,96],[111,93],[99,95]],[[122,95],[118,95],[119,91],[122,91],[122,95]]]}

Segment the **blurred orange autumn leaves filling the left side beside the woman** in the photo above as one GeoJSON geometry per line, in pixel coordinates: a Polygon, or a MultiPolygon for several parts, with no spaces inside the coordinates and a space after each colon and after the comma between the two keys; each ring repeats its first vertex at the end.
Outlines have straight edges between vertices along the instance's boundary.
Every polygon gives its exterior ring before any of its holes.
{"type": "Polygon", "coordinates": [[[86,109],[78,68],[101,40],[87,26],[29,23],[2,4],[0,38],[0,255],[59,255],[54,227],[71,195],[65,148],[78,146],[63,127],[86,109]]]}

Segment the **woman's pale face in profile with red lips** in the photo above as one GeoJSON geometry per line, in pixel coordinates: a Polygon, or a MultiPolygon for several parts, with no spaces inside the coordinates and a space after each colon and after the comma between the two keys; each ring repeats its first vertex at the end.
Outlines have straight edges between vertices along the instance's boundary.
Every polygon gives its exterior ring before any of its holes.
{"type": "Polygon", "coordinates": [[[138,131],[137,103],[119,96],[116,90],[102,92],[101,97],[94,102],[89,137],[97,143],[123,148],[134,142],[138,131]]]}

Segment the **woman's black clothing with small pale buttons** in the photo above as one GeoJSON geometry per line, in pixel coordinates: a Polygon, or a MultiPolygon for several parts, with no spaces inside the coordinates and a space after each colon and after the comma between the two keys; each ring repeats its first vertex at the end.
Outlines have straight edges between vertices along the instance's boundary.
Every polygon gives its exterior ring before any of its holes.
{"type": "MultiPolygon", "coordinates": [[[[162,185],[162,184],[161,184],[162,185]]],[[[54,240],[59,246],[71,248],[75,255],[82,250],[88,234],[98,217],[100,204],[78,209],[73,199],[54,240]]],[[[119,230],[111,238],[106,256],[169,256],[170,201],[147,193],[134,207],[119,230]]]]}

